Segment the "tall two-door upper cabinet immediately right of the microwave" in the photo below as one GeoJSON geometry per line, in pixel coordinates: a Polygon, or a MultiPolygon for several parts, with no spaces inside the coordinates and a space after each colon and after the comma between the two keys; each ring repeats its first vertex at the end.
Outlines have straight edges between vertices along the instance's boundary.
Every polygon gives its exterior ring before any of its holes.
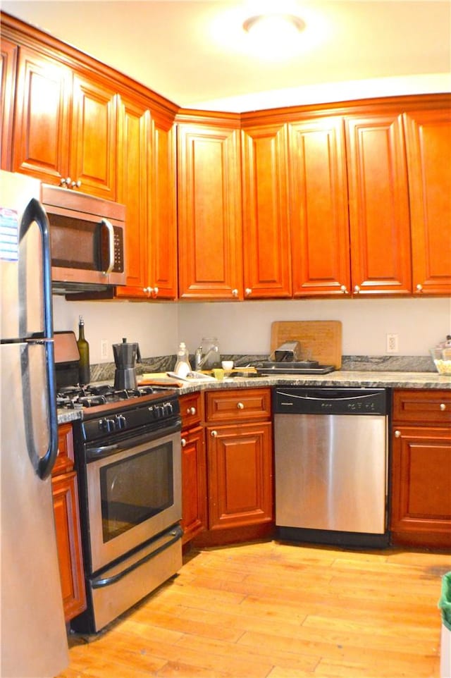
{"type": "Polygon", "coordinates": [[[170,120],[152,116],[149,101],[121,97],[118,202],[127,209],[127,285],[117,297],[177,295],[175,135],[170,120]]]}

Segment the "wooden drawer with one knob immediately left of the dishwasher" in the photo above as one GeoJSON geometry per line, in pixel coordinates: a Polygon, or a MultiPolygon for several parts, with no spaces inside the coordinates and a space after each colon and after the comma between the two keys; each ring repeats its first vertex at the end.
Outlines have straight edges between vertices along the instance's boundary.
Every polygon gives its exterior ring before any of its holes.
{"type": "Polygon", "coordinates": [[[207,392],[205,396],[205,418],[209,422],[271,417],[269,388],[213,391],[207,392]]]}

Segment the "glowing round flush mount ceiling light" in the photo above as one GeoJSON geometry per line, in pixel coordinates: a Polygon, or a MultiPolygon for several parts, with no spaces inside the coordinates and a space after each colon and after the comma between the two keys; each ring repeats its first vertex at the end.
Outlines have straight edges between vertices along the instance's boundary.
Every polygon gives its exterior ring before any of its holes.
{"type": "Polygon", "coordinates": [[[259,49],[286,54],[299,45],[305,23],[294,14],[268,13],[249,17],[242,27],[259,49]]]}

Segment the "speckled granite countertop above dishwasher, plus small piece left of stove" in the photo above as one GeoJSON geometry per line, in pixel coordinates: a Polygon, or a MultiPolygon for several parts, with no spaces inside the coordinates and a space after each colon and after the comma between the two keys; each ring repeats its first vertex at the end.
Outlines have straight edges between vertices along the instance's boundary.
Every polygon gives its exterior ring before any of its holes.
{"type": "MultiPolygon", "coordinates": [[[[358,388],[428,388],[451,390],[451,375],[435,372],[342,371],[330,374],[278,374],[276,376],[235,377],[224,381],[196,381],[178,388],[179,395],[198,390],[258,388],[261,386],[339,386],[358,388]]],[[[82,419],[82,410],[58,409],[58,424],[82,419]]]]}

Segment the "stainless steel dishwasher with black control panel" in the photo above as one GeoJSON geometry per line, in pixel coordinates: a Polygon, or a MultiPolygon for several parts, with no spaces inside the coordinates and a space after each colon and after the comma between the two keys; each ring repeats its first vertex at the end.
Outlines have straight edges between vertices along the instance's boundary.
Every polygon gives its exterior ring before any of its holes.
{"type": "Polygon", "coordinates": [[[280,538],[388,544],[388,409],[383,388],[274,390],[280,538]]]}

